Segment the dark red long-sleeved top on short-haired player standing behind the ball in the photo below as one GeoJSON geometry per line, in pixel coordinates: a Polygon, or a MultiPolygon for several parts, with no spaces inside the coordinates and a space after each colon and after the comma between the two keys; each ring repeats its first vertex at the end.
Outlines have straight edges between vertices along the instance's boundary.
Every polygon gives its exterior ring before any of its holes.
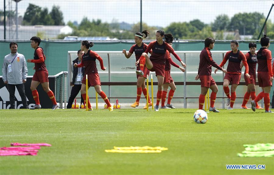
{"type": "Polygon", "coordinates": [[[222,70],[222,67],[220,67],[211,56],[210,49],[208,47],[205,47],[201,53],[200,53],[200,63],[199,63],[199,69],[198,69],[198,75],[209,75],[211,76],[211,67],[216,67],[219,70],[222,70]]]}

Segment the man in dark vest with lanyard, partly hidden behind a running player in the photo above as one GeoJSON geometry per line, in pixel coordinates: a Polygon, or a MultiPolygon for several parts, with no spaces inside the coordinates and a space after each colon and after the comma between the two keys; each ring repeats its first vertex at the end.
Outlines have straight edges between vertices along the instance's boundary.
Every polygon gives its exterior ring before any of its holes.
{"type": "MultiPolygon", "coordinates": [[[[72,61],[72,65],[71,65],[71,69],[73,72],[73,76],[72,76],[72,82],[70,82],[70,85],[72,86],[71,89],[71,93],[70,93],[70,97],[68,99],[68,105],[67,108],[70,109],[73,103],[74,98],[77,96],[77,94],[79,93],[81,86],[82,86],[82,80],[83,77],[85,75],[85,70],[84,67],[74,67],[73,65],[75,63],[80,64],[81,63],[81,59],[82,56],[84,54],[84,51],[82,50],[78,50],[77,55],[78,58],[76,58],[75,60],[72,61]]],[[[84,103],[84,99],[81,96],[81,104],[84,103]]]]}

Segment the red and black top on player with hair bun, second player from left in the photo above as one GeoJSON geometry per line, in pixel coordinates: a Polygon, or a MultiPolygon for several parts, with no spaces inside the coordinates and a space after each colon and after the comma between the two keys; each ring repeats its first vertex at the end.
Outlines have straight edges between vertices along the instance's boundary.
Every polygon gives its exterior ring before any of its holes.
{"type": "Polygon", "coordinates": [[[87,53],[83,54],[81,63],[77,67],[85,67],[85,74],[97,73],[96,59],[99,60],[101,69],[104,70],[103,59],[98,55],[98,53],[88,50],[87,53]]]}

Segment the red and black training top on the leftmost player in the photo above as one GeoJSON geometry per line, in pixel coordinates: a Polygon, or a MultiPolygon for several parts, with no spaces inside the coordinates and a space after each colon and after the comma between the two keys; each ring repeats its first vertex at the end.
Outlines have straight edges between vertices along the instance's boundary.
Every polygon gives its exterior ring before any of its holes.
{"type": "Polygon", "coordinates": [[[31,63],[34,63],[35,71],[47,70],[45,60],[46,56],[44,55],[43,48],[37,47],[34,50],[33,60],[30,60],[31,63]]]}

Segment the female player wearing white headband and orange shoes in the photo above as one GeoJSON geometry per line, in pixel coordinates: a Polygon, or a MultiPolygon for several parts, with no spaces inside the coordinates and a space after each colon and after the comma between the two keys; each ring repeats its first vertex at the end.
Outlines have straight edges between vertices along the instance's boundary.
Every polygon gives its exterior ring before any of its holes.
{"type": "MultiPolygon", "coordinates": [[[[141,57],[142,53],[144,53],[146,51],[147,48],[147,44],[143,43],[143,38],[146,38],[147,35],[149,34],[149,31],[144,30],[141,32],[137,32],[135,33],[134,36],[134,40],[135,43],[129,50],[129,52],[127,53],[127,51],[125,49],[123,49],[123,53],[125,54],[126,58],[130,58],[132,53],[135,53],[135,58],[136,58],[136,66],[137,66],[137,70],[140,70],[140,64],[139,64],[139,58],[141,57]],[[143,36],[143,34],[145,34],[145,36],[143,36]]],[[[149,51],[151,52],[151,51],[149,51]]],[[[146,66],[144,67],[144,75],[143,76],[139,76],[139,74],[137,74],[137,98],[136,101],[131,105],[132,108],[136,108],[137,106],[139,106],[139,101],[141,98],[141,94],[143,92],[144,96],[146,97],[146,86],[145,86],[145,80],[146,80],[146,75],[149,75],[149,70],[146,68],[146,66]]],[[[148,97],[149,98],[149,97],[148,97]]],[[[152,102],[150,101],[149,98],[149,107],[152,106],[152,102]]],[[[146,109],[147,107],[145,106],[143,109],[146,109]]]]}

